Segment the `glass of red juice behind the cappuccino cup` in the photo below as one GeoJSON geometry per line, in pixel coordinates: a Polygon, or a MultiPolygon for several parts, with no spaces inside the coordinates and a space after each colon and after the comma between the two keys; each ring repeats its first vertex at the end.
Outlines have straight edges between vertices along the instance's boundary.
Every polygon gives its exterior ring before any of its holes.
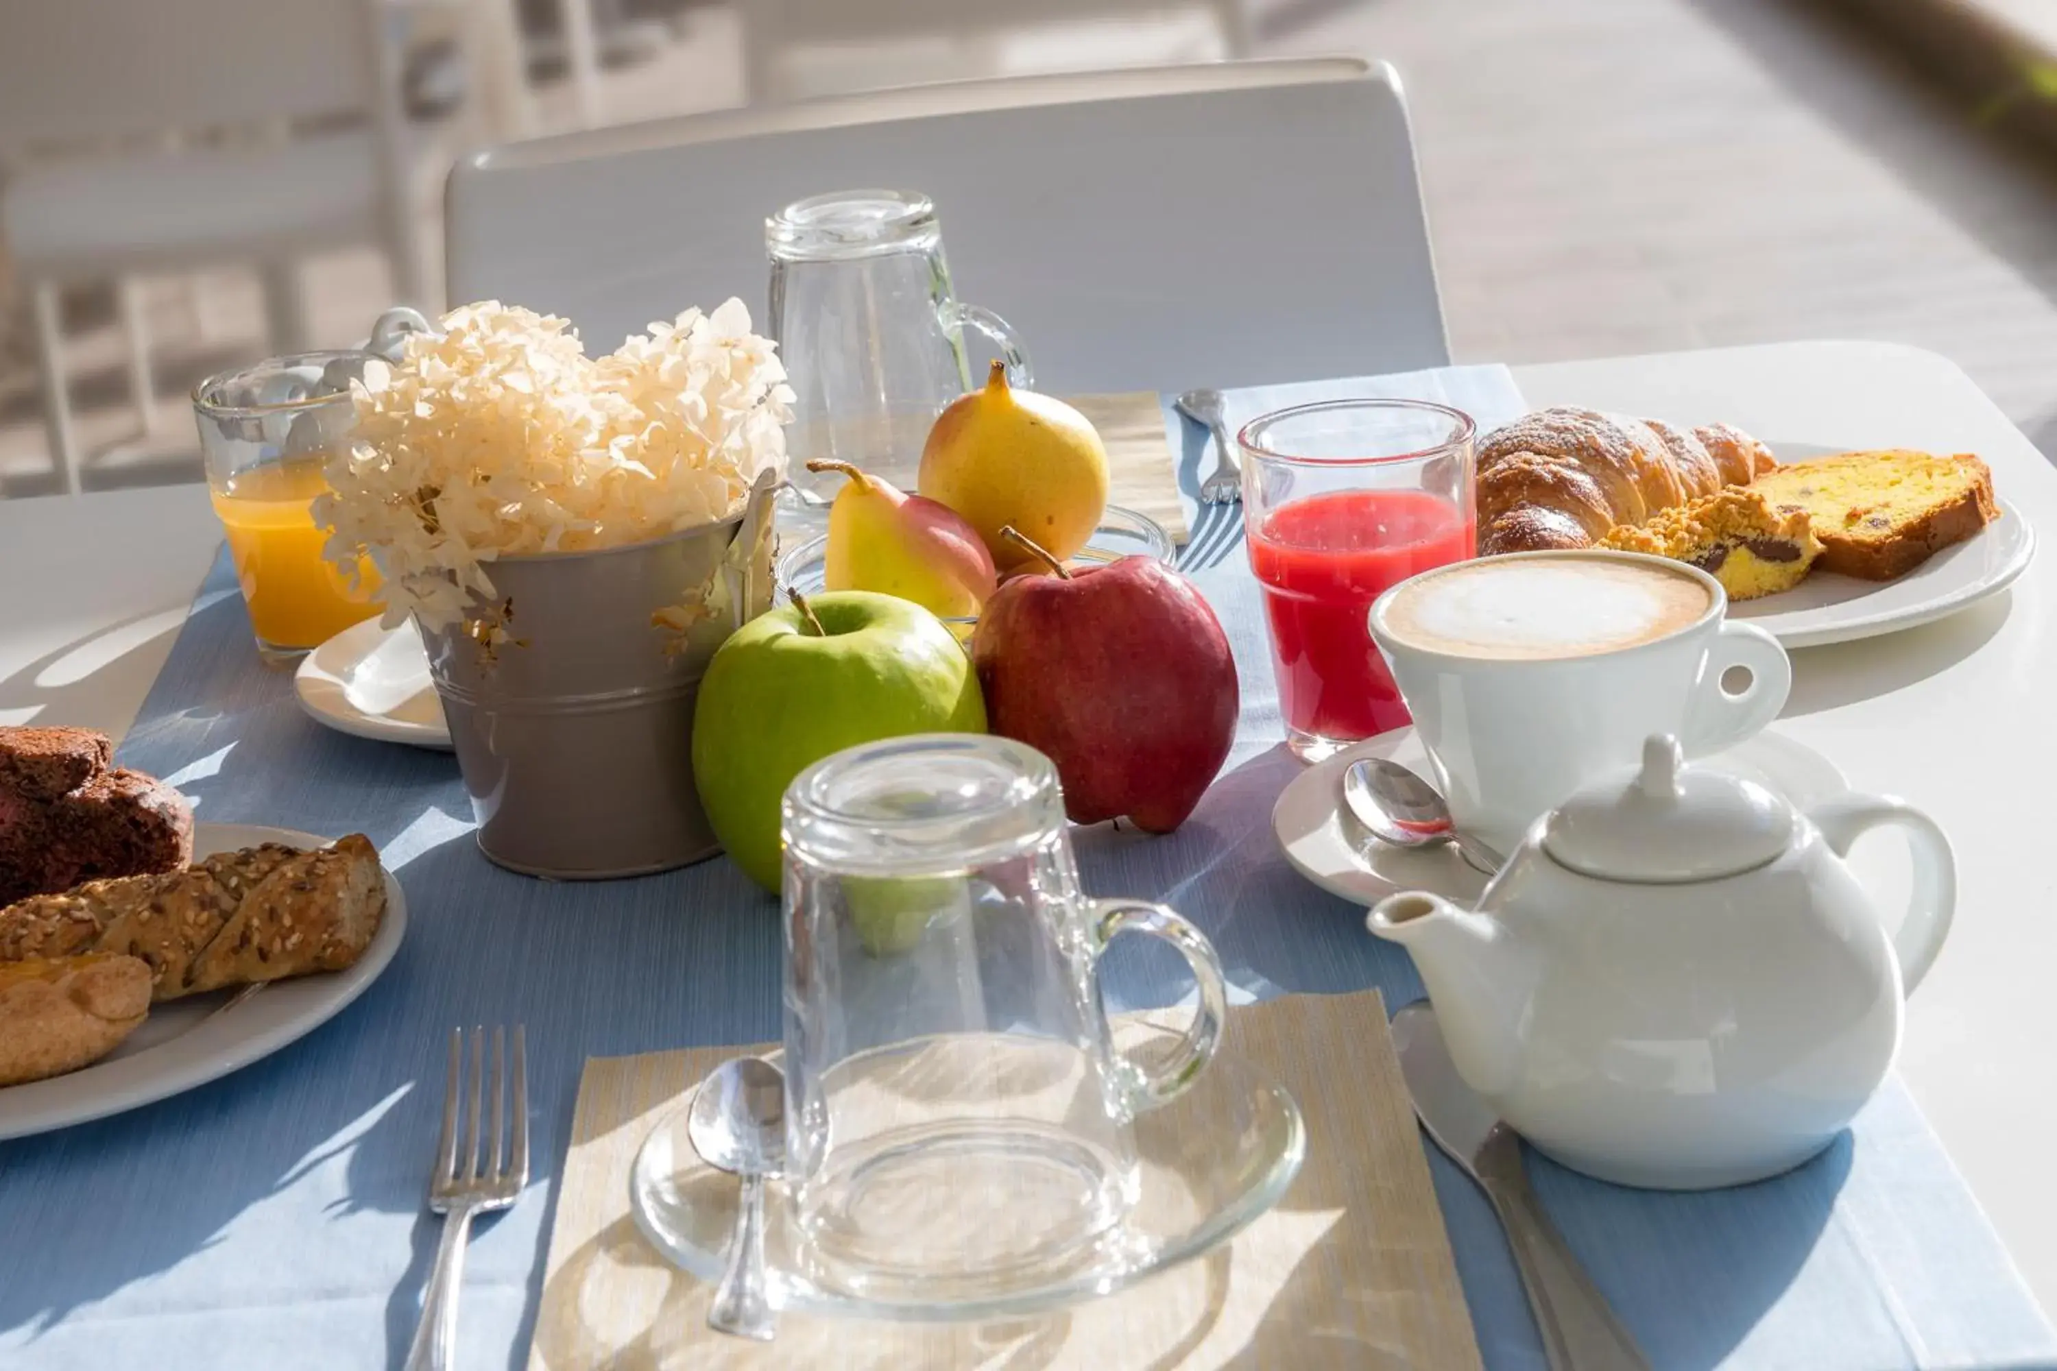
{"type": "Polygon", "coordinates": [[[1473,555],[1473,432],[1430,401],[1323,401],[1242,428],[1242,528],[1300,761],[1411,721],[1368,615],[1388,586],[1473,555]]]}

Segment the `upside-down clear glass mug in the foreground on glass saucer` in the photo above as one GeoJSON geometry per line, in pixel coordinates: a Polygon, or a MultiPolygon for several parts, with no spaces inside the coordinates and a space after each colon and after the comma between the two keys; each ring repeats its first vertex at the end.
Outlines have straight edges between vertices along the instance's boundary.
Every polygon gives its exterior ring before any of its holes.
{"type": "Polygon", "coordinates": [[[1090,900],[1049,758],[1006,738],[850,748],[786,789],[786,1178],[808,1279],[983,1299],[1119,1242],[1131,1120],[1214,1057],[1222,966],[1162,904],[1090,900]],[[1115,1052],[1098,960],[1170,941],[1179,1044],[1115,1052]]]}

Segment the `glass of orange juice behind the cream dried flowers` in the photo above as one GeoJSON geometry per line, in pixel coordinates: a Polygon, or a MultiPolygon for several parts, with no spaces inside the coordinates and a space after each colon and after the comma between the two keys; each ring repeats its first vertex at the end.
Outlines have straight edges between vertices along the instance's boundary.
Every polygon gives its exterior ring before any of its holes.
{"type": "Polygon", "coordinates": [[[292,662],[378,613],[376,569],[364,561],[352,582],[323,557],[329,530],[313,514],[329,489],[323,462],[356,428],[350,382],[372,362],[383,358],[306,351],[193,386],[208,489],[267,662],[292,662]]]}

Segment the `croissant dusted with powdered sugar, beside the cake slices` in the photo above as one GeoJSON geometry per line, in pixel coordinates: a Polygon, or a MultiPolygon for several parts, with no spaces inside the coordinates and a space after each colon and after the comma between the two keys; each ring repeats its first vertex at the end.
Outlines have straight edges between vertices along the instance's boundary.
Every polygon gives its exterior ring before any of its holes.
{"type": "Polygon", "coordinates": [[[1539,409],[1479,442],[1479,555],[1592,547],[1617,524],[1773,467],[1765,444],[1726,423],[1685,434],[1658,419],[1539,409]]]}

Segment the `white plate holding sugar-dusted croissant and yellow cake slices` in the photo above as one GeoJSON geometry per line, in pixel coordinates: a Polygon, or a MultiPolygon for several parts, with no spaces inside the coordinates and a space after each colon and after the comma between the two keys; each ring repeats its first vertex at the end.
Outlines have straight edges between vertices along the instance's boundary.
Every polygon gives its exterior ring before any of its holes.
{"type": "Polygon", "coordinates": [[[1765,444],[1539,409],[1479,440],[1479,555],[1654,553],[1722,582],[1785,647],[1932,623],[2006,590],[2034,532],[1973,452],[1765,444]]]}

